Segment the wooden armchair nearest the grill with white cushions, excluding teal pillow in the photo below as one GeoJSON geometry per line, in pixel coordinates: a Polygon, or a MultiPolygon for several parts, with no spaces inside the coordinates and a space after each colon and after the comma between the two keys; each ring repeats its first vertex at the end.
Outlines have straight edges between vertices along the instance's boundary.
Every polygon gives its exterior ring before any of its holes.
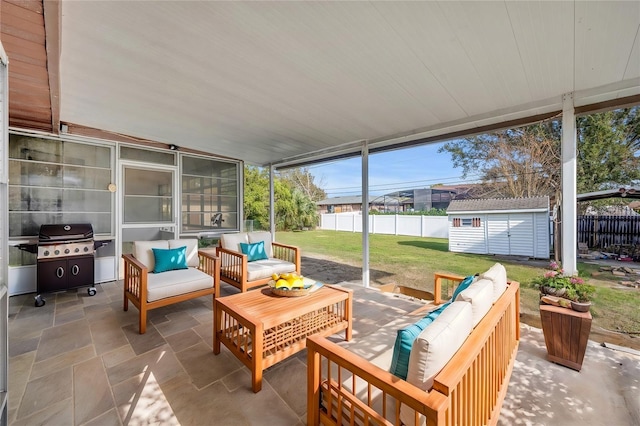
{"type": "Polygon", "coordinates": [[[133,253],[123,254],[124,310],[129,301],[138,308],[140,334],[147,331],[147,311],[196,297],[219,296],[216,282],[220,262],[212,253],[199,251],[197,239],[134,241],[133,253]],[[154,273],[156,258],[153,249],[179,250],[185,247],[186,268],[154,273]]]}

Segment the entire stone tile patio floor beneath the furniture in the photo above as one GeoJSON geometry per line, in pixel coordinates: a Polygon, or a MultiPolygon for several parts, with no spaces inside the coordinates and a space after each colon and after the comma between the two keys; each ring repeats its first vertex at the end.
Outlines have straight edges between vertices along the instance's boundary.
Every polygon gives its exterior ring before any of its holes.
{"type": "MultiPolygon", "coordinates": [[[[342,285],[355,290],[353,340],[332,340],[384,364],[422,304],[342,285]]],[[[97,287],[93,297],[49,294],[41,308],[34,295],[10,298],[9,424],[306,424],[306,351],[266,370],[254,394],[248,369],[224,346],[213,355],[210,297],[150,311],[140,335],[136,308],[122,310],[121,283],[97,287]]],[[[233,292],[223,285],[223,296],[233,292]]],[[[580,373],[545,357],[541,331],[523,326],[499,424],[640,424],[637,353],[590,342],[580,373]]]]}

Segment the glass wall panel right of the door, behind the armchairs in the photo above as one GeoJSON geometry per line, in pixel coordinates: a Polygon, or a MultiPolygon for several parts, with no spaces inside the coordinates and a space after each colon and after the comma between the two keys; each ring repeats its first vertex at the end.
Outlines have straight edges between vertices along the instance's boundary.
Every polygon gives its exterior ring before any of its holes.
{"type": "Polygon", "coordinates": [[[182,156],[182,232],[238,229],[239,167],[182,156]]]}

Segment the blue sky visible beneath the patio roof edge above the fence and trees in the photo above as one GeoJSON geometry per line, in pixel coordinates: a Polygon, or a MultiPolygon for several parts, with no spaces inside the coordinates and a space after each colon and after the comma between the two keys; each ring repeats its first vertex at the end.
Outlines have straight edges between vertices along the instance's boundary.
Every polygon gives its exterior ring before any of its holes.
{"type": "MultiPolygon", "coordinates": [[[[428,188],[438,183],[455,185],[465,182],[462,170],[453,168],[451,154],[438,153],[443,144],[389,151],[369,156],[370,195],[428,188]]],[[[315,183],[329,197],[360,195],[362,160],[360,157],[309,167],[315,183]]],[[[469,176],[466,181],[473,180],[469,176]]]]}

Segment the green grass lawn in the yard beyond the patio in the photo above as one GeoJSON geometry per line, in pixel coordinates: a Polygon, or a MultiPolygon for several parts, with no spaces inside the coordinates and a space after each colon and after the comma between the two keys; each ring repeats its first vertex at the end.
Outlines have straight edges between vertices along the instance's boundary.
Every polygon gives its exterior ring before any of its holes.
{"type": "MultiPolygon", "coordinates": [[[[303,256],[317,255],[351,266],[362,266],[360,233],[322,230],[278,232],[276,239],[299,246],[303,256]]],[[[369,237],[372,286],[396,283],[432,292],[434,272],[472,275],[489,269],[495,262],[507,268],[510,279],[520,282],[522,312],[539,321],[539,295],[530,284],[534,277],[546,270],[548,262],[545,260],[451,253],[448,251],[448,240],[441,238],[377,234],[369,237]]],[[[590,277],[590,273],[597,270],[598,266],[578,263],[578,269],[581,276],[590,277]]],[[[613,278],[602,276],[598,279],[589,278],[589,283],[596,286],[591,308],[594,326],[631,336],[640,335],[640,291],[619,286],[613,278]]]]}

